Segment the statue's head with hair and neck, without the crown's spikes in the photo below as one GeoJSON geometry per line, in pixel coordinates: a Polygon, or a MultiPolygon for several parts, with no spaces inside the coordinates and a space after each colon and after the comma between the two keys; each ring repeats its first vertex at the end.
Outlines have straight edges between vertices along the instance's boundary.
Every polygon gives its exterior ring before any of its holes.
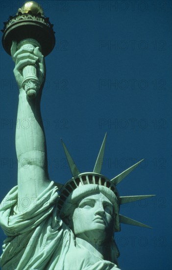
{"type": "MultiPolygon", "coordinates": [[[[81,174],[79,177],[84,179],[86,176],[81,174]]],[[[89,174],[89,179],[91,178],[91,182],[93,179],[95,182],[95,178],[98,180],[98,176],[89,174]]],[[[73,181],[74,179],[70,183],[74,183],[73,181]]],[[[119,250],[114,241],[114,231],[120,231],[118,197],[105,186],[82,181],[84,185],[80,182],[79,186],[69,194],[62,207],[59,204],[59,216],[73,231],[75,237],[90,244],[105,246],[109,250],[109,260],[118,264],[119,250]]],[[[67,189],[69,189],[68,185],[67,189]]],[[[66,190],[63,189],[63,194],[64,191],[66,190]]]]}

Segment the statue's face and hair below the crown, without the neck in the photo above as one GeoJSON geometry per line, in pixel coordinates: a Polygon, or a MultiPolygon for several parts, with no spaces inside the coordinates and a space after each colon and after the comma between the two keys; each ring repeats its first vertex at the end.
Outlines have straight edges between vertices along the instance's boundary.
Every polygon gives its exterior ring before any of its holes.
{"type": "Polygon", "coordinates": [[[118,213],[119,201],[111,189],[85,184],[74,189],[59,214],[75,236],[82,238],[94,231],[104,234],[105,240],[112,237],[114,231],[120,231],[118,213]]]}

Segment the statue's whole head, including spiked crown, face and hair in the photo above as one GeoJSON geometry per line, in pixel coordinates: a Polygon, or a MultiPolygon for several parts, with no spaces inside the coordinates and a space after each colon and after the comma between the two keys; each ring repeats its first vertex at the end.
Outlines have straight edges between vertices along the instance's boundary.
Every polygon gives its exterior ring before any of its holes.
{"type": "Polygon", "coordinates": [[[58,201],[59,216],[72,229],[74,235],[87,242],[100,239],[108,243],[111,261],[116,262],[119,256],[114,241],[114,232],[121,230],[120,223],[146,227],[149,226],[119,214],[120,205],[153,195],[120,197],[116,186],[140,162],[132,165],[121,174],[109,180],[101,174],[106,135],[101,145],[93,172],[80,173],[65,144],[63,147],[73,174],[73,178],[65,185],[57,184],[60,189],[58,201]]]}

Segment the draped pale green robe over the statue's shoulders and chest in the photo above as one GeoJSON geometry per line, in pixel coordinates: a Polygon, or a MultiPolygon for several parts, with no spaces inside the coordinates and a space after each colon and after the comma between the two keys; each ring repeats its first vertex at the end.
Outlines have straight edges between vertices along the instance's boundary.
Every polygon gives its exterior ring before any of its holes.
{"type": "Polygon", "coordinates": [[[23,198],[24,212],[17,208],[18,187],[0,205],[0,222],[7,238],[2,246],[2,270],[119,270],[100,258],[89,243],[75,239],[58,217],[57,188],[53,182],[38,198],[23,198]]]}

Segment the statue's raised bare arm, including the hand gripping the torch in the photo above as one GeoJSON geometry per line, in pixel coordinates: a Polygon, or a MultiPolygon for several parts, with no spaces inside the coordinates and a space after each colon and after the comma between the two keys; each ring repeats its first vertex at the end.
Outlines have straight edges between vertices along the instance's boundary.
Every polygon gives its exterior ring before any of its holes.
{"type": "Polygon", "coordinates": [[[47,166],[47,148],[44,128],[41,118],[40,102],[42,88],[45,81],[45,62],[39,47],[25,50],[21,48],[16,52],[13,43],[11,54],[16,63],[14,75],[19,85],[19,107],[17,121],[20,128],[16,128],[16,153],[18,158],[18,205],[23,198],[35,198],[49,185],[47,166]],[[21,87],[23,81],[22,70],[26,65],[36,65],[41,88],[36,98],[30,99],[21,87]]]}

